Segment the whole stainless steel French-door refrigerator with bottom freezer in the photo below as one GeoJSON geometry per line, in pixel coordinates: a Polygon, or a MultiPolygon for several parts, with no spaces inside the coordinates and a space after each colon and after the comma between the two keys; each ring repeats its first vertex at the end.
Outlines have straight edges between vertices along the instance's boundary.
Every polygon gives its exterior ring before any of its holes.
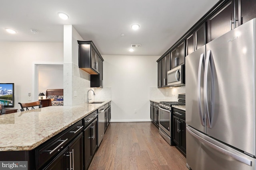
{"type": "Polygon", "coordinates": [[[256,169],[256,20],[186,56],[186,161],[256,169]]]}

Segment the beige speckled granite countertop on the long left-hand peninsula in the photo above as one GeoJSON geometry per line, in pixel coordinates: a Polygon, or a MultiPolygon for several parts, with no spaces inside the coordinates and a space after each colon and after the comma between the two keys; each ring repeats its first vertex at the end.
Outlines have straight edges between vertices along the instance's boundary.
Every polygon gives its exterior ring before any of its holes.
{"type": "Polygon", "coordinates": [[[49,106],[0,116],[0,151],[32,150],[111,100],[102,104],[49,106]]]}

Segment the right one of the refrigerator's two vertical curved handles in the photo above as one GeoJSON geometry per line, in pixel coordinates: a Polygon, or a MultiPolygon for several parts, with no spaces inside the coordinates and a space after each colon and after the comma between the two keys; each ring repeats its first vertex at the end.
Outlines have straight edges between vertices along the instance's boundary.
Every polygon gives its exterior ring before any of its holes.
{"type": "MultiPolygon", "coordinates": [[[[212,107],[212,110],[210,111],[209,110],[209,106],[208,106],[208,68],[209,68],[209,64],[211,66],[211,69],[212,69],[212,64],[210,63],[210,55],[211,55],[211,50],[207,51],[207,54],[206,54],[206,61],[205,61],[205,67],[204,67],[204,106],[205,106],[205,111],[206,111],[206,119],[208,120],[208,127],[209,128],[212,128],[212,114],[213,114],[213,107],[212,107]],[[210,117],[210,113],[211,113],[211,117],[210,117]]],[[[212,78],[213,78],[213,74],[212,74],[212,78]]],[[[212,89],[210,90],[210,92],[212,93],[212,103],[213,102],[213,99],[214,99],[214,85],[213,85],[213,80],[212,80],[212,89]]]]}

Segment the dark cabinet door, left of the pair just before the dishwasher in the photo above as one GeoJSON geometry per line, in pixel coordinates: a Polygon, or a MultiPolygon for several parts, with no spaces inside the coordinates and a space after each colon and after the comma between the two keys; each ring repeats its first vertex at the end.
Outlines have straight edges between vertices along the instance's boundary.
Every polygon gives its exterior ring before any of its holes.
{"type": "Polygon", "coordinates": [[[90,125],[84,129],[84,166],[88,168],[92,159],[92,143],[91,143],[91,127],[90,125]]]}

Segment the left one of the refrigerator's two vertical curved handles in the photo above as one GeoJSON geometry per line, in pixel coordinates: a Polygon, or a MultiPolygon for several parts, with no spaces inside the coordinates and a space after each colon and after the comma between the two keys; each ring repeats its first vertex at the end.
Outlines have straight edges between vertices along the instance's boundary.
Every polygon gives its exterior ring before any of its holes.
{"type": "Polygon", "coordinates": [[[197,76],[197,100],[198,100],[198,107],[199,107],[199,117],[201,125],[205,126],[204,122],[204,114],[202,114],[202,104],[201,104],[201,70],[204,63],[204,53],[201,54],[199,60],[199,67],[198,67],[198,76],[197,76]]]}

